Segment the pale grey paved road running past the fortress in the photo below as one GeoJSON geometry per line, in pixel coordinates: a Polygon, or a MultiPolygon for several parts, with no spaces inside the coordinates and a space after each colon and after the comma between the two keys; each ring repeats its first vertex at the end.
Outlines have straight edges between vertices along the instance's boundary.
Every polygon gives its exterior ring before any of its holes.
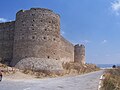
{"type": "Polygon", "coordinates": [[[0,90],[97,90],[103,71],[89,74],[31,80],[7,80],[0,82],[0,90]]]}

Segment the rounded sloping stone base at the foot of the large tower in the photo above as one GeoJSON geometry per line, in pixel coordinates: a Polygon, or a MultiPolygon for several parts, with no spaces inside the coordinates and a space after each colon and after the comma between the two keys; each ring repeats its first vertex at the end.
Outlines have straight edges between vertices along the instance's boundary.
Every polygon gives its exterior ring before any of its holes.
{"type": "Polygon", "coordinates": [[[54,59],[25,58],[20,60],[15,67],[19,69],[31,69],[35,71],[62,71],[62,63],[54,59]]]}

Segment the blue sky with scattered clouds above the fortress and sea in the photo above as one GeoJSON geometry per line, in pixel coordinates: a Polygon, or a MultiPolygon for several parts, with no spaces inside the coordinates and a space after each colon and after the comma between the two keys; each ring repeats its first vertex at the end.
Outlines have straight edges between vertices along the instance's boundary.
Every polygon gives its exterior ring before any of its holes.
{"type": "Polygon", "coordinates": [[[85,44],[88,63],[120,63],[120,0],[1,0],[0,22],[21,9],[49,8],[61,16],[61,33],[85,44]]]}

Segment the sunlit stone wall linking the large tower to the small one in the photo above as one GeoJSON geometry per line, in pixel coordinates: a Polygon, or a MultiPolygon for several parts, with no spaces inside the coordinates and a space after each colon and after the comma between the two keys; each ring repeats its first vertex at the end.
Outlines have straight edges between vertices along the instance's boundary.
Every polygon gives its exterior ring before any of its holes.
{"type": "Polygon", "coordinates": [[[66,62],[74,62],[74,45],[67,41],[63,36],[61,38],[60,43],[60,58],[61,61],[66,62]]]}

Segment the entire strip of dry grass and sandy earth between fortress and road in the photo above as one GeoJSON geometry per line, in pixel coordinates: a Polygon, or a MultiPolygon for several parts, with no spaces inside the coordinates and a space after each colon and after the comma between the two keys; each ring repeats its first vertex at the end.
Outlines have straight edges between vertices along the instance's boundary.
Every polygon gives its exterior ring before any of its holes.
{"type": "Polygon", "coordinates": [[[22,72],[26,75],[31,75],[35,78],[53,78],[53,77],[59,77],[59,76],[68,76],[68,75],[80,75],[84,73],[89,73],[93,71],[100,70],[96,65],[94,64],[80,64],[80,63],[65,63],[62,64],[63,70],[62,71],[48,71],[48,70],[19,70],[16,68],[8,67],[7,65],[1,64],[0,68],[3,70],[3,74],[15,74],[16,72],[22,72]]]}

